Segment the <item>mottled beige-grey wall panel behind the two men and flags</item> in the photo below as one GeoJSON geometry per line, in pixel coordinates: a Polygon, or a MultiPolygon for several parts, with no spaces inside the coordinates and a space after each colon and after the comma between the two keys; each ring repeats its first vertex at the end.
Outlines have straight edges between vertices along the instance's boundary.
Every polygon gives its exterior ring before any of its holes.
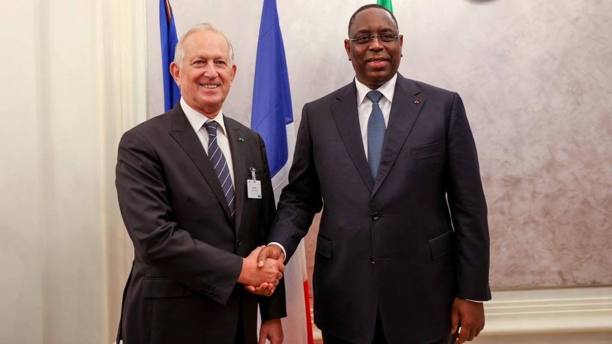
{"type": "MultiPolygon", "coordinates": [[[[277,2],[299,122],[305,102],[351,81],[343,39],[348,18],[368,1],[277,2]]],[[[261,1],[172,4],[179,35],[211,21],[233,41],[238,72],[224,110],[248,125],[261,1]]],[[[491,286],[611,285],[612,2],[393,6],[404,35],[400,72],[465,102],[489,206],[491,286]]],[[[147,11],[154,115],[161,111],[157,6],[147,11]]]]}

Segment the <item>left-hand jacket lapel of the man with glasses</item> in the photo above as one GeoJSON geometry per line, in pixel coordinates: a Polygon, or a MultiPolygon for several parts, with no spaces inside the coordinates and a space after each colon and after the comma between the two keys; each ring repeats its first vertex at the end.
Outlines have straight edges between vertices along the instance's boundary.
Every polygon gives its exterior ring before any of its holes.
{"type": "Polygon", "coordinates": [[[370,191],[373,187],[370,168],[365,159],[364,143],[359,129],[359,114],[357,113],[357,88],[355,82],[346,85],[345,92],[340,92],[337,103],[333,103],[332,116],[340,132],[346,151],[351,156],[357,171],[370,191]]]}

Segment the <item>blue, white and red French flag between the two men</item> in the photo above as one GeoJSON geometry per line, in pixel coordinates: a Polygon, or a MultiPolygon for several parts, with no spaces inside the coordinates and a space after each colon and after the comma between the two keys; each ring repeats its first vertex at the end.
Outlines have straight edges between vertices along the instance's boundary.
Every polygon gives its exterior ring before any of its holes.
{"type": "MultiPolygon", "coordinates": [[[[288,183],[296,136],[285,47],[278,24],[276,0],[264,0],[261,12],[251,129],[258,132],[266,143],[274,198],[278,203],[280,192],[288,183]]],[[[282,319],[284,342],[312,344],[304,242],[300,242],[287,264],[283,278],[287,301],[287,317],[282,319]]]]}

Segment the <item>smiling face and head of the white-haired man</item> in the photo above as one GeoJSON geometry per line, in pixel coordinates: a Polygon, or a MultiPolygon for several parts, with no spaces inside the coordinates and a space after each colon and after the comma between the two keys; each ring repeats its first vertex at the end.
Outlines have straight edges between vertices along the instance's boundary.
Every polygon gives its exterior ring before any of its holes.
{"type": "Polygon", "coordinates": [[[236,75],[228,42],[218,32],[196,31],[185,37],[183,48],[181,65],[170,64],[174,81],[187,105],[215,118],[236,75]]]}

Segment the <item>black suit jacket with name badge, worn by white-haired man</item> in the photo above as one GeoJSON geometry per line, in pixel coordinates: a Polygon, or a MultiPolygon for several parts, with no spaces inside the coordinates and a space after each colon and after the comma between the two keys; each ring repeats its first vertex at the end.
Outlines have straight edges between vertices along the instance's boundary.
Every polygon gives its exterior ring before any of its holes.
{"type": "Polygon", "coordinates": [[[258,302],[263,320],[285,316],[283,285],[266,298],[236,283],[242,257],[264,244],[275,207],[263,140],[233,119],[224,121],[235,222],[180,103],[121,138],[116,186],[135,249],[118,334],[125,344],[233,343],[241,308],[247,343],[255,343],[258,302]],[[250,167],[262,199],[245,195],[250,167]]]}

